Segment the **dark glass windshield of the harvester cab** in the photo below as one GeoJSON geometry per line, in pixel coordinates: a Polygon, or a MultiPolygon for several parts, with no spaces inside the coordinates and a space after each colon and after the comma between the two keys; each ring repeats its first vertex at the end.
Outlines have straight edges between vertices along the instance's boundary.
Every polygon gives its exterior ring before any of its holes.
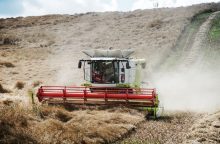
{"type": "Polygon", "coordinates": [[[118,83],[119,62],[92,62],[92,83],[118,83]]]}

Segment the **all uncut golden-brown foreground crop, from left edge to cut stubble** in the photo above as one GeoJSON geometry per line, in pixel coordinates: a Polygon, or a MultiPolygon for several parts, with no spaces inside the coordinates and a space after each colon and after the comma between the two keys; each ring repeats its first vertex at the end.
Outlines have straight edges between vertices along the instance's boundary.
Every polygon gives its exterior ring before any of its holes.
{"type": "Polygon", "coordinates": [[[3,106],[0,143],[111,143],[122,139],[144,120],[142,114],[126,110],[70,112],[62,107],[40,106],[38,117],[13,103],[3,106]]]}

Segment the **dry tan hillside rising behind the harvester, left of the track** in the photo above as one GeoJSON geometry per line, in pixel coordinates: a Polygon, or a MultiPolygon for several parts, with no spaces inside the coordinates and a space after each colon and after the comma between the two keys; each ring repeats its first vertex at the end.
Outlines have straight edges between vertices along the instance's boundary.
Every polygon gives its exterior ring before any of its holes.
{"type": "Polygon", "coordinates": [[[17,73],[3,68],[2,84],[10,87],[18,80],[78,84],[74,76],[81,74],[75,69],[78,59],[85,57],[81,50],[91,48],[135,49],[135,56],[154,67],[175,46],[192,17],[210,7],[2,19],[1,39],[9,45],[1,46],[1,61],[16,65],[17,73]]]}

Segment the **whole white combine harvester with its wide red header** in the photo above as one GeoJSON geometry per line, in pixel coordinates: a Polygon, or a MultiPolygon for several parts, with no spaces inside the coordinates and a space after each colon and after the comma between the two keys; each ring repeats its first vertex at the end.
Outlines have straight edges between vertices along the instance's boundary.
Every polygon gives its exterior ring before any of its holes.
{"type": "Polygon", "coordinates": [[[155,89],[141,88],[145,59],[133,59],[131,50],[87,50],[89,59],[79,60],[86,83],[76,86],[41,86],[40,102],[73,105],[128,106],[157,117],[159,100],[155,89]]]}

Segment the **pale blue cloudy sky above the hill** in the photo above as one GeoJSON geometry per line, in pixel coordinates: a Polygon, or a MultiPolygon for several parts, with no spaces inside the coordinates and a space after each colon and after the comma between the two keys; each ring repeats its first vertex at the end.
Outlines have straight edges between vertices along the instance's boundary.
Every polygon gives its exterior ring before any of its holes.
{"type": "Polygon", "coordinates": [[[220,0],[0,0],[0,17],[132,11],[179,7],[220,0]]]}

